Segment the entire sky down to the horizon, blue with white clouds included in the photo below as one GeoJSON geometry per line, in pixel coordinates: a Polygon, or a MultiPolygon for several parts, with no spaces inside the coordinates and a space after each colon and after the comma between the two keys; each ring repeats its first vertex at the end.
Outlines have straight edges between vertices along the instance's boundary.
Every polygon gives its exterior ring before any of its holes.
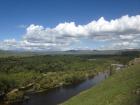
{"type": "Polygon", "coordinates": [[[140,48],[140,0],[0,0],[0,49],[140,48]]]}

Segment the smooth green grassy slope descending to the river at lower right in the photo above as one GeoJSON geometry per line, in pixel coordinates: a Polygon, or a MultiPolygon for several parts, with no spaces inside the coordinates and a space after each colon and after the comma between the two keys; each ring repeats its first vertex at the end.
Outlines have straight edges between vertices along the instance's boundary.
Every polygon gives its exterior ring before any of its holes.
{"type": "Polygon", "coordinates": [[[140,65],[120,71],[63,105],[140,105],[140,65]]]}

